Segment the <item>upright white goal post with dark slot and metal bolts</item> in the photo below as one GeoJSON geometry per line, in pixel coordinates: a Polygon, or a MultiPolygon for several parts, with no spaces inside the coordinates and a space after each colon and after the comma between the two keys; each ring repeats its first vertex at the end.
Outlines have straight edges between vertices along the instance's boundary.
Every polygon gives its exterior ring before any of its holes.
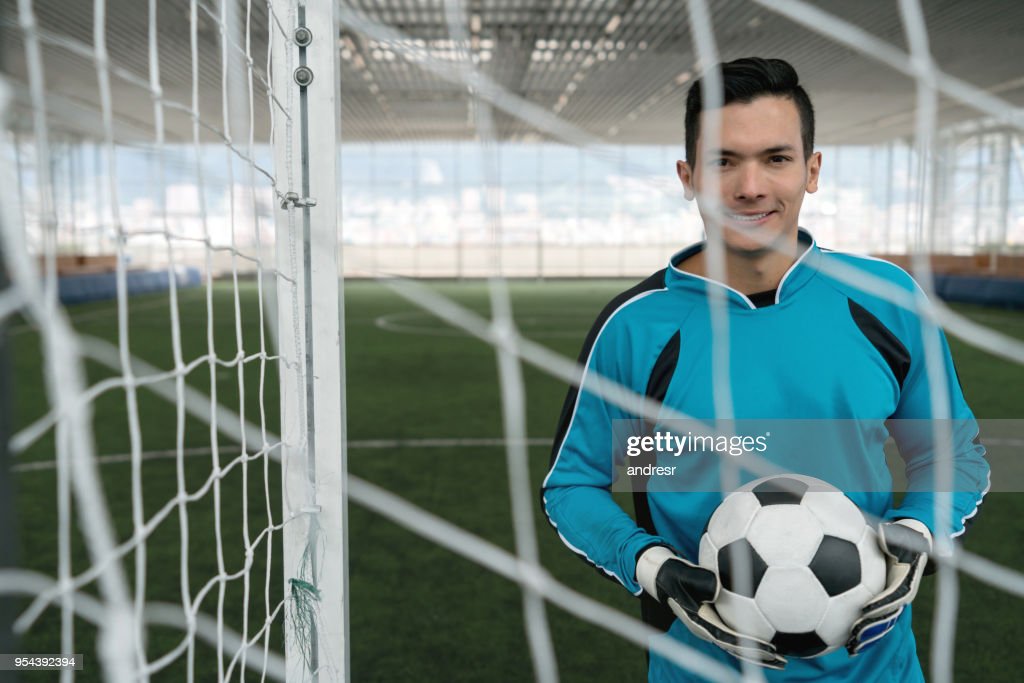
{"type": "Polygon", "coordinates": [[[289,680],[348,680],[345,383],[339,271],[334,3],[292,0],[270,61],[289,126],[273,129],[289,680]],[[314,169],[315,172],[310,172],[314,169]],[[284,195],[284,197],[282,197],[284,195]],[[314,608],[302,609],[304,600],[314,608]],[[308,623],[303,623],[308,621],[308,623]]]}

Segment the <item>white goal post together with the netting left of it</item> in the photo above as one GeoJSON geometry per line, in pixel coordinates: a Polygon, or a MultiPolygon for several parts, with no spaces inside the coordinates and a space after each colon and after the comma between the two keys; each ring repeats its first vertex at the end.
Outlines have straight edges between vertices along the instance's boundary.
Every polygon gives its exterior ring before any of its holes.
{"type": "Polygon", "coordinates": [[[3,9],[6,626],[62,680],[344,678],[330,8],[3,9]]]}

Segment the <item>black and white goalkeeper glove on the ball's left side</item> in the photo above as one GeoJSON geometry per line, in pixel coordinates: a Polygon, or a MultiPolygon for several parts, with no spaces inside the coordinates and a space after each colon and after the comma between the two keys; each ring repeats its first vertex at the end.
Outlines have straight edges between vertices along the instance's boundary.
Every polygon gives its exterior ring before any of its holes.
{"type": "Polygon", "coordinates": [[[743,636],[725,625],[715,609],[721,583],[714,571],[687,562],[666,546],[652,546],[637,560],[637,582],[658,602],[667,604],[697,638],[762,667],[785,667],[785,657],[775,651],[774,645],[743,636]]]}

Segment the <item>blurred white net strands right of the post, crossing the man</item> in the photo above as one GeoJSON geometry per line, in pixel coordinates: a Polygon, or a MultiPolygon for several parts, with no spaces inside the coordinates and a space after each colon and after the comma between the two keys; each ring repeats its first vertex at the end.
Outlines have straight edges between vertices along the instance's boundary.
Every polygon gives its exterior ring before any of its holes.
{"type": "MultiPolygon", "coordinates": [[[[908,173],[912,177],[909,191],[914,197],[906,203],[908,208],[905,218],[908,227],[904,238],[905,241],[901,246],[912,252],[912,270],[919,282],[923,284],[926,292],[930,295],[933,303],[925,304],[922,300],[909,296],[905,292],[896,291],[895,288],[881,280],[872,280],[853,269],[836,267],[829,269],[828,274],[841,282],[856,285],[861,290],[883,297],[899,306],[919,311],[922,313],[925,337],[933,341],[936,339],[934,330],[938,324],[952,335],[963,338],[972,345],[984,348],[1001,357],[1012,359],[1014,362],[1021,362],[1024,359],[1024,356],[1021,354],[1024,349],[1022,349],[1018,340],[993,330],[982,329],[971,319],[938,303],[932,286],[930,261],[925,256],[926,249],[935,247],[936,224],[940,220],[937,212],[934,209],[929,209],[930,206],[934,206],[932,203],[936,201],[936,173],[934,164],[937,147],[935,114],[937,93],[942,92],[946,96],[956,98],[1009,125],[1019,125],[1020,111],[1005,101],[992,98],[989,93],[984,92],[980,88],[939,71],[928,53],[927,32],[924,28],[920,5],[913,2],[900,3],[904,28],[910,45],[909,53],[901,52],[899,49],[894,48],[884,41],[880,41],[856,26],[843,22],[807,3],[764,2],[757,4],[772,12],[779,13],[796,24],[826,37],[828,40],[837,41],[850,49],[856,50],[870,59],[879,60],[896,72],[910,76],[919,86],[915,123],[916,134],[913,145],[906,152],[908,173]],[[933,334],[928,334],[929,332],[933,334]]],[[[453,65],[450,59],[444,57],[432,58],[429,52],[423,50],[422,41],[417,41],[411,36],[402,35],[400,31],[387,26],[386,22],[374,20],[368,16],[369,12],[362,12],[353,7],[342,6],[340,9],[341,20],[344,26],[376,41],[375,45],[383,49],[393,50],[397,58],[406,58],[411,63],[415,63],[418,68],[438,78],[458,78],[460,82],[469,85],[476,108],[483,111],[487,111],[490,108],[500,110],[518,118],[527,126],[541,131],[543,135],[550,135],[561,142],[579,145],[582,152],[581,159],[584,156],[593,160],[600,160],[602,158],[602,152],[605,151],[595,144],[595,141],[589,137],[588,133],[573,127],[565,120],[552,120],[547,112],[539,111],[532,102],[508,92],[495,81],[492,81],[483,73],[484,70],[482,67],[474,69],[465,62],[461,66],[458,63],[453,65]]],[[[456,45],[461,44],[460,37],[461,40],[469,43],[470,41],[467,40],[464,27],[471,26],[472,19],[469,19],[468,24],[460,25],[458,23],[461,20],[459,19],[459,13],[453,10],[452,7],[447,7],[447,16],[450,22],[452,22],[449,26],[450,38],[456,45]],[[453,19],[453,17],[456,18],[453,19]]],[[[690,37],[696,48],[698,63],[715,63],[718,61],[715,41],[716,33],[712,27],[707,4],[697,1],[690,2],[687,3],[687,10],[691,27],[690,37]]],[[[479,63],[477,55],[474,55],[474,59],[476,60],[474,63],[479,63]]],[[[710,78],[705,81],[705,87],[706,101],[715,101],[716,97],[720,101],[720,84],[716,84],[714,79],[710,78]],[[717,94],[716,89],[718,89],[717,94]]],[[[556,105],[555,112],[558,113],[560,109],[561,106],[556,105]]],[[[712,121],[714,122],[714,118],[712,118],[712,121]]],[[[487,163],[494,165],[495,152],[493,147],[488,150],[488,144],[494,142],[495,132],[488,126],[488,116],[480,116],[478,114],[475,124],[481,140],[478,154],[484,158],[484,166],[487,163]],[[492,156],[489,162],[486,159],[488,154],[492,156]]],[[[703,144],[707,148],[713,148],[717,133],[715,132],[715,125],[710,125],[709,128],[711,128],[711,131],[707,129],[702,131],[705,137],[703,144]]],[[[892,154],[892,148],[890,148],[889,154],[892,154]]],[[[487,184],[486,181],[485,184],[487,184]]],[[[716,193],[712,190],[708,194],[710,197],[703,198],[703,201],[713,207],[717,201],[716,193]]],[[[489,221],[498,221],[500,218],[500,216],[495,215],[496,208],[493,205],[487,206],[486,203],[483,213],[489,221]]],[[[889,220],[891,220],[891,214],[886,218],[886,221],[889,220]]],[[[708,231],[710,238],[709,252],[714,252],[716,251],[716,243],[718,245],[721,244],[721,234],[714,224],[708,225],[708,231]]],[[[892,245],[892,236],[887,231],[883,234],[882,241],[888,248],[892,245]]],[[[500,250],[501,247],[495,245],[493,249],[500,250]]],[[[710,270],[712,278],[720,281],[724,280],[720,276],[723,273],[724,263],[720,258],[716,263],[714,256],[711,257],[711,261],[710,270]],[[716,276],[716,272],[718,276],[716,276]]],[[[378,266],[375,270],[379,271],[380,269],[380,266],[378,266]]],[[[428,288],[417,285],[414,282],[396,282],[392,283],[392,287],[403,297],[422,306],[431,314],[440,317],[449,325],[493,344],[499,355],[500,367],[504,368],[504,364],[506,362],[515,366],[515,361],[508,357],[515,356],[519,362],[535,365],[545,372],[552,373],[570,383],[579,385],[583,369],[563,357],[552,354],[548,349],[535,344],[517,332],[515,323],[509,312],[511,307],[506,298],[507,285],[504,281],[492,281],[492,310],[494,311],[492,319],[481,318],[474,312],[459,306],[452,300],[446,300],[438,296],[428,288]]],[[[724,301],[719,301],[717,306],[713,307],[719,309],[718,314],[713,315],[714,336],[718,339],[727,338],[728,318],[724,314],[724,301]]],[[[729,386],[729,383],[722,381],[723,378],[729,376],[727,358],[723,353],[714,355],[716,357],[715,377],[719,379],[719,381],[713,384],[713,390],[716,395],[716,414],[719,416],[729,415],[731,414],[731,398],[724,390],[729,386]]],[[[941,366],[940,350],[934,343],[926,349],[926,365],[931,380],[942,384],[941,378],[945,371],[941,366]]],[[[510,471],[514,471],[521,463],[519,460],[521,458],[520,450],[517,446],[527,442],[526,430],[516,419],[517,407],[524,400],[524,396],[522,387],[515,381],[514,373],[506,374],[503,371],[501,379],[502,405],[505,411],[505,426],[507,430],[506,438],[510,444],[508,446],[509,468],[510,471]]],[[[626,409],[630,414],[646,416],[651,420],[658,418],[667,419],[664,407],[645,404],[642,397],[631,394],[624,387],[615,386],[613,383],[602,382],[594,378],[590,378],[590,381],[592,382],[591,391],[600,394],[608,402],[626,409]]],[[[941,418],[944,415],[942,400],[939,396],[936,396],[933,409],[937,417],[941,418]]],[[[945,476],[947,480],[951,480],[949,479],[952,462],[951,453],[949,452],[950,440],[948,435],[945,438],[942,438],[941,434],[939,436],[938,442],[943,443],[945,447],[941,450],[944,452],[939,454],[938,469],[940,476],[945,476]]],[[[518,501],[523,500],[524,492],[515,488],[516,478],[514,475],[510,476],[510,481],[513,489],[513,505],[515,506],[518,501]]],[[[938,488],[948,489],[949,486],[948,484],[943,486],[940,483],[938,488]]],[[[577,601],[577,598],[581,596],[572,594],[564,586],[552,582],[550,577],[545,573],[543,567],[538,566],[531,561],[532,558],[529,556],[528,550],[525,552],[522,550],[523,547],[528,549],[529,544],[536,542],[531,536],[534,530],[532,521],[526,511],[516,511],[513,515],[517,547],[519,548],[519,554],[513,556],[503,553],[497,548],[483,547],[482,544],[479,544],[479,540],[466,538],[463,531],[453,528],[443,520],[427,514],[422,509],[410,508],[399,500],[367,482],[353,478],[349,496],[360,505],[369,506],[375,512],[388,516],[395,523],[408,526],[436,543],[446,545],[467,558],[484,563],[493,570],[502,572],[503,575],[507,575],[510,579],[517,580],[522,585],[524,591],[524,621],[526,622],[526,629],[529,634],[548,633],[543,611],[530,610],[528,598],[536,592],[536,594],[544,596],[561,607],[571,609],[583,618],[592,618],[595,624],[612,630],[625,638],[645,646],[653,645],[653,648],[659,651],[659,653],[680,664],[689,671],[698,673],[712,680],[735,680],[736,675],[734,672],[722,669],[716,663],[701,657],[699,653],[689,651],[683,647],[673,646],[665,643],[663,640],[648,640],[654,634],[650,631],[645,631],[644,627],[632,622],[623,614],[604,613],[595,615],[596,610],[593,609],[594,605],[586,604],[586,599],[577,601]],[[519,546],[518,544],[523,539],[528,540],[522,546],[519,546]],[[571,607],[568,606],[570,604],[572,605],[571,607]],[[637,636],[640,636],[639,639],[637,636]]],[[[936,497],[936,500],[938,509],[936,518],[948,519],[948,512],[942,514],[943,511],[948,510],[948,498],[939,495],[936,497]]],[[[940,523],[941,526],[942,524],[940,523]]],[[[933,676],[936,676],[940,680],[950,680],[952,671],[952,652],[954,651],[952,644],[955,637],[954,617],[957,599],[955,575],[957,569],[981,581],[995,583],[994,573],[991,573],[987,569],[978,570],[981,565],[976,562],[981,560],[980,557],[963,549],[957,548],[954,550],[949,546],[948,535],[948,526],[937,529],[937,538],[939,538],[938,555],[943,558],[939,569],[938,591],[936,594],[937,614],[941,623],[933,631],[930,664],[933,676]]],[[[1019,591],[1022,587],[1020,573],[1010,567],[1002,567],[1002,569],[1007,573],[1002,573],[1001,579],[1008,579],[1011,574],[1014,575],[1014,579],[1012,582],[999,581],[997,582],[998,585],[1004,590],[1020,595],[1019,591]]],[[[538,638],[531,639],[529,644],[537,678],[539,680],[556,680],[557,669],[555,669],[553,660],[554,652],[551,649],[551,641],[546,638],[538,638]]],[[[759,678],[756,669],[748,667],[744,668],[743,673],[759,678]]]]}

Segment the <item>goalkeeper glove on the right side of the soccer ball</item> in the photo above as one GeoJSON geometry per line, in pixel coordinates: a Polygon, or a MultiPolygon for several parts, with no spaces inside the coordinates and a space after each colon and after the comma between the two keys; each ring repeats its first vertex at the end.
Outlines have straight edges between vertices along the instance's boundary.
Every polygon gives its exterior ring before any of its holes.
{"type": "Polygon", "coordinates": [[[892,631],[903,608],[918,595],[932,548],[932,533],[916,519],[884,522],[879,525],[879,547],[888,567],[886,587],[864,605],[853,625],[846,643],[850,654],[860,654],[892,631]]]}

